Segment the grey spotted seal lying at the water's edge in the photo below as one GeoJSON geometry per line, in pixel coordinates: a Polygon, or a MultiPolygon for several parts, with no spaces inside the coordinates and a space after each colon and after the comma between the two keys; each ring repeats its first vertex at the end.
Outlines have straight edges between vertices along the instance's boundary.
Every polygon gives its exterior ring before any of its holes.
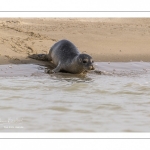
{"type": "Polygon", "coordinates": [[[68,40],[60,40],[55,43],[49,54],[33,54],[30,58],[52,61],[56,66],[52,72],[65,71],[73,74],[80,74],[94,70],[92,57],[88,54],[81,54],[77,47],[68,40]]]}

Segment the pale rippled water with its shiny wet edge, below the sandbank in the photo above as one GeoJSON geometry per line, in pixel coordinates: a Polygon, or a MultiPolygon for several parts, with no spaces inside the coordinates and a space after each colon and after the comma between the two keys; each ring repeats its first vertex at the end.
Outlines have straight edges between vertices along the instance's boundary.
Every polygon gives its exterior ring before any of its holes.
{"type": "Polygon", "coordinates": [[[0,66],[0,132],[149,132],[150,63],[97,63],[102,74],[0,66]]]}

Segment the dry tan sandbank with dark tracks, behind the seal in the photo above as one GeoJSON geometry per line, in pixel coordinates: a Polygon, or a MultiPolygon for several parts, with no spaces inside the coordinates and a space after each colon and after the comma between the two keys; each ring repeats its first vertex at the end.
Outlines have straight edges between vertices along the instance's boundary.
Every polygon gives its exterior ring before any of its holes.
{"type": "Polygon", "coordinates": [[[150,61],[150,18],[0,18],[0,64],[45,63],[61,39],[99,62],[150,61]]]}

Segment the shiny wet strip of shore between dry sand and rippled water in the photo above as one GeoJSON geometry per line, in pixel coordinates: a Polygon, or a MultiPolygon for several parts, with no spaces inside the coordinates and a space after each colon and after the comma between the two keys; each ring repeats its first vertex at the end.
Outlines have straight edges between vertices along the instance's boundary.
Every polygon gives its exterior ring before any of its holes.
{"type": "MultiPolygon", "coordinates": [[[[150,62],[95,62],[95,70],[88,72],[90,75],[110,76],[138,76],[150,71],[150,62]]],[[[50,75],[46,73],[48,65],[37,64],[4,64],[0,65],[0,77],[39,77],[50,75]]],[[[61,77],[85,77],[87,74],[73,75],[70,73],[57,73],[61,77]]]]}

